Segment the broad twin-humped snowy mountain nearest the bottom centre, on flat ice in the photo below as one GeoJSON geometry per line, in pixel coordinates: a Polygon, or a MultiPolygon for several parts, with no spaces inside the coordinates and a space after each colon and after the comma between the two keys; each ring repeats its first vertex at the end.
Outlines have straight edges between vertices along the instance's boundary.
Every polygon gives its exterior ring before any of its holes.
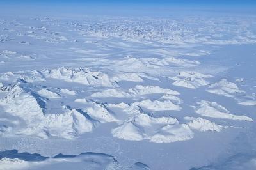
{"type": "Polygon", "coordinates": [[[185,141],[193,137],[188,125],[180,124],[175,118],[154,118],[148,114],[139,114],[112,130],[115,137],[141,141],[148,139],[154,143],[185,141]]]}

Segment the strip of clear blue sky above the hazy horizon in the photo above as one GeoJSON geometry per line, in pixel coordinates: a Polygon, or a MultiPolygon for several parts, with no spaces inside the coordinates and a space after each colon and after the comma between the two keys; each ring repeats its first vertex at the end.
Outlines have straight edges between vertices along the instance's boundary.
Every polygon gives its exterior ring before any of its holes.
{"type": "Polygon", "coordinates": [[[0,0],[1,12],[83,13],[93,15],[168,15],[172,11],[204,10],[256,13],[256,0],[0,0]]]}

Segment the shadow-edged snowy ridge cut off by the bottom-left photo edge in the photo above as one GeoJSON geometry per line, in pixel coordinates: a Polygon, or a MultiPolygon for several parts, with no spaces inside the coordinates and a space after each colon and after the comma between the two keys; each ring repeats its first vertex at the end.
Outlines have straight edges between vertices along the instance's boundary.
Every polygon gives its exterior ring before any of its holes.
{"type": "Polygon", "coordinates": [[[15,169],[149,169],[149,167],[141,162],[136,162],[130,167],[122,166],[113,156],[104,153],[81,153],[79,155],[56,155],[55,157],[42,157],[41,155],[33,155],[29,153],[12,153],[10,151],[7,157],[0,159],[0,166],[3,170],[15,169]],[[23,158],[8,158],[8,157],[29,157],[35,160],[22,160],[23,158]],[[42,160],[40,160],[42,159],[42,160]],[[63,166],[65,165],[65,166],[63,166]]]}

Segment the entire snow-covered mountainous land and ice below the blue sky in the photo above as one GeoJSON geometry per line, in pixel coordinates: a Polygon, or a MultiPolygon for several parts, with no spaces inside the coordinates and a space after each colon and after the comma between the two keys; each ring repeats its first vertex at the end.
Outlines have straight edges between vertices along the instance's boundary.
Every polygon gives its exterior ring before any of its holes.
{"type": "Polygon", "coordinates": [[[252,15],[3,15],[0,169],[256,169],[255,42],[252,15]]]}

